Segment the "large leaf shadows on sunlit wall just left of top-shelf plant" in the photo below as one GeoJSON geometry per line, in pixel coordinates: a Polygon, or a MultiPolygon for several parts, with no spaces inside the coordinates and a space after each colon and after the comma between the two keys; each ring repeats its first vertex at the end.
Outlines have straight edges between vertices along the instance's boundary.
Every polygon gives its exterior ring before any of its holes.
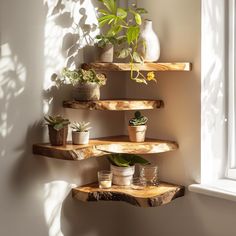
{"type": "MultiPolygon", "coordinates": [[[[73,2],[79,2],[82,5],[84,0],[73,2]]],[[[56,17],[56,25],[63,29],[73,30],[73,32],[66,33],[62,40],[62,53],[66,60],[66,67],[74,64],[78,66],[82,62],[94,60],[94,47],[92,46],[94,39],[92,34],[97,30],[97,25],[87,23],[88,14],[88,9],[81,7],[79,9],[80,19],[75,22],[71,12],[65,11],[65,5],[62,0],[59,0],[52,10],[51,15],[56,17]]]]}

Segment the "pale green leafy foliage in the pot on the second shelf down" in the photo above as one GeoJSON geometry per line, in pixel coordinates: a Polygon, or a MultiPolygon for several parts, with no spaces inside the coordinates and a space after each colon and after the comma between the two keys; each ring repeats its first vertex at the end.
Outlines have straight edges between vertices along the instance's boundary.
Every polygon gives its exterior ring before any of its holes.
{"type": "Polygon", "coordinates": [[[54,81],[58,85],[66,84],[66,78],[73,86],[87,82],[97,83],[100,86],[106,84],[106,76],[101,73],[96,73],[93,69],[84,70],[80,68],[78,70],[69,70],[68,68],[64,68],[61,72],[61,77],[57,76],[54,81]]]}

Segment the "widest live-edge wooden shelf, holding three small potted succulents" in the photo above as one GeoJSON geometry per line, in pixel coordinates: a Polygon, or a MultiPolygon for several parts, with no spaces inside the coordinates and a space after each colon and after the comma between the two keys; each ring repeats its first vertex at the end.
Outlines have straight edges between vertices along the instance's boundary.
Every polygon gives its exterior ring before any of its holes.
{"type": "Polygon", "coordinates": [[[114,136],[90,140],[88,145],[51,146],[34,144],[33,153],[63,160],[84,160],[90,157],[104,156],[108,153],[154,154],[178,149],[173,141],[146,139],[142,143],[133,143],[127,136],[114,136]]]}

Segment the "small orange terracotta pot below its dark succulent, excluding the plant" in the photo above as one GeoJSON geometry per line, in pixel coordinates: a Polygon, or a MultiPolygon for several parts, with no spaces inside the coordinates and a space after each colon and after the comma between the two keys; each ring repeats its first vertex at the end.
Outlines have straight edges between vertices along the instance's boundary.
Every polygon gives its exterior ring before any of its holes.
{"type": "Polygon", "coordinates": [[[131,142],[144,142],[147,126],[128,126],[129,140],[131,142]]]}

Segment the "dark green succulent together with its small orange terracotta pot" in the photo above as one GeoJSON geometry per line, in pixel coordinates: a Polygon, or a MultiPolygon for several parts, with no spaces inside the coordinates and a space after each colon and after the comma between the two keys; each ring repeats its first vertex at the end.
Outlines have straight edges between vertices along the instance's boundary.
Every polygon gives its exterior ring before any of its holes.
{"type": "Polygon", "coordinates": [[[144,142],[147,130],[146,116],[142,116],[140,111],[134,113],[134,118],[129,120],[128,133],[131,142],[144,142]]]}

